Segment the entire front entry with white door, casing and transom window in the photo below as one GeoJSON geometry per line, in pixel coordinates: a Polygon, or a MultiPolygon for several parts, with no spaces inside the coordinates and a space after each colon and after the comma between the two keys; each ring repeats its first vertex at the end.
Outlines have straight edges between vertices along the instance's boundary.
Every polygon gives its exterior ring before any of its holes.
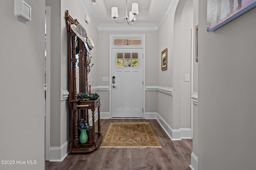
{"type": "Polygon", "coordinates": [[[110,35],[112,118],[145,118],[145,35],[110,35]]]}

